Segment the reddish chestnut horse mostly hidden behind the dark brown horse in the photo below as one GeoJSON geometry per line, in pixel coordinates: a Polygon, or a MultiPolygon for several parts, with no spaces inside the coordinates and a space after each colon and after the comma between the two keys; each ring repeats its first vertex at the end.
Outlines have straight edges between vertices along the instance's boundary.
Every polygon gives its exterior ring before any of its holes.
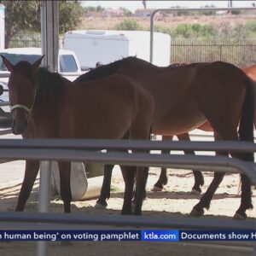
{"type": "MultiPolygon", "coordinates": [[[[177,64],[176,64],[177,65],[177,64]]],[[[182,64],[184,65],[184,64],[182,64]]],[[[241,70],[247,74],[247,76],[253,80],[253,88],[254,88],[254,96],[256,96],[256,65],[250,67],[243,67],[241,70]]],[[[254,101],[255,102],[255,101],[254,101]]],[[[256,104],[254,104],[254,118],[253,118],[254,127],[256,127],[256,104]]],[[[198,127],[201,131],[213,131],[211,124],[207,121],[200,127],[198,127]]],[[[172,140],[173,136],[163,136],[162,140],[172,140]]],[[[183,133],[177,135],[178,140],[190,141],[189,133],[183,133]]],[[[169,153],[169,151],[166,151],[169,153]]],[[[185,154],[195,154],[194,151],[187,150],[185,154]]],[[[198,173],[201,171],[197,170],[198,173]]],[[[195,184],[201,183],[202,175],[195,175],[195,184]]],[[[161,168],[160,177],[158,181],[154,184],[154,191],[161,191],[164,188],[164,185],[168,182],[166,168],[161,168]]],[[[201,193],[201,189],[199,187],[194,187],[192,192],[195,194],[201,193]]]]}

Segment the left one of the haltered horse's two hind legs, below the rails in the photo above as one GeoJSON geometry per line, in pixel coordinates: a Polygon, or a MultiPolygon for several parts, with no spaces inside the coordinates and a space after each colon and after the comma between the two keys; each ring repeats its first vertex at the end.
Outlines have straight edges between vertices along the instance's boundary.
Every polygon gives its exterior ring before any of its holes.
{"type": "Polygon", "coordinates": [[[131,214],[131,201],[133,194],[134,177],[136,172],[136,167],[133,166],[120,166],[122,175],[125,181],[125,195],[124,204],[121,214],[131,214]]]}

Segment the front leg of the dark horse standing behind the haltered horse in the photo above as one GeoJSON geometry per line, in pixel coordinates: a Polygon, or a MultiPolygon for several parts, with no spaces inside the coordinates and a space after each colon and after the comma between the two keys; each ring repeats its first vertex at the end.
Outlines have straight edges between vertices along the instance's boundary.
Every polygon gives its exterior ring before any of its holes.
{"type": "Polygon", "coordinates": [[[96,207],[98,208],[108,207],[107,199],[110,198],[110,185],[111,185],[112,172],[113,172],[113,165],[104,166],[104,177],[103,177],[101,195],[96,201],[96,207]]]}

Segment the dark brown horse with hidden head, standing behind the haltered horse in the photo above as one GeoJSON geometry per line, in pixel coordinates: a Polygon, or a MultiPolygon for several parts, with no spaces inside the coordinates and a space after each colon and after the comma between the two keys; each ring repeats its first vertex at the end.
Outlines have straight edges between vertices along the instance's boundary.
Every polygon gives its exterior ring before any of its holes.
{"type": "MultiPolygon", "coordinates": [[[[88,81],[123,73],[136,79],[154,96],[155,111],[152,132],[174,136],[210,122],[215,139],[253,142],[253,83],[238,67],[217,61],[194,63],[183,67],[156,67],[147,61],[128,57],[97,67],[77,79],[88,81]],[[239,130],[237,132],[237,127],[239,130]]],[[[253,154],[232,154],[253,161],[253,154]]],[[[106,205],[111,175],[106,169],[98,203],[106,205]],[[108,186],[104,186],[104,185],[108,186]],[[107,189],[106,189],[107,188],[107,189]]],[[[224,172],[215,172],[212,183],[192,215],[202,215],[210,207],[212,196],[224,172]]],[[[252,207],[250,179],[241,175],[241,206],[236,218],[245,218],[252,207]]]]}

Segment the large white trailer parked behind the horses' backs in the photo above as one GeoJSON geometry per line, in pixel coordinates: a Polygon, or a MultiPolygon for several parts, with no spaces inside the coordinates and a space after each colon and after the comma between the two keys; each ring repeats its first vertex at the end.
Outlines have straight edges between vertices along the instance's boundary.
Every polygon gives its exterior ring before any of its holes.
{"type": "MultiPolygon", "coordinates": [[[[113,30],[76,30],[64,35],[64,49],[73,50],[82,69],[108,64],[127,56],[149,61],[150,32],[113,30]]],[[[154,32],[154,65],[170,65],[171,37],[154,32]]]]}

